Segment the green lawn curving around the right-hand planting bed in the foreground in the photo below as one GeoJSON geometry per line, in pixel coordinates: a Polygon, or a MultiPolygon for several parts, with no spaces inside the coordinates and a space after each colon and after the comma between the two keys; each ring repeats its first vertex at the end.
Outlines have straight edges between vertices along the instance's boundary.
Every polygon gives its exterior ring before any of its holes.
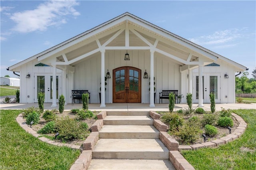
{"type": "Polygon", "coordinates": [[[244,134],[218,148],[182,151],[182,155],[196,170],[255,170],[256,169],[256,109],[232,112],[247,122],[244,134]]]}

